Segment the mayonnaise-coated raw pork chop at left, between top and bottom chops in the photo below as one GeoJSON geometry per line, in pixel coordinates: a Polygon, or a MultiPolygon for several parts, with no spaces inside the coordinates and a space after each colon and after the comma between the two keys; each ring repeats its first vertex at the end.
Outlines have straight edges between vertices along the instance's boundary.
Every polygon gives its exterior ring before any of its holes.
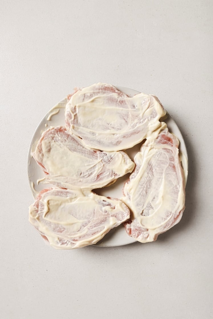
{"type": "Polygon", "coordinates": [[[84,147],[65,127],[46,130],[32,154],[58,187],[95,189],[132,172],[134,163],[125,152],[100,152],[84,147]]]}

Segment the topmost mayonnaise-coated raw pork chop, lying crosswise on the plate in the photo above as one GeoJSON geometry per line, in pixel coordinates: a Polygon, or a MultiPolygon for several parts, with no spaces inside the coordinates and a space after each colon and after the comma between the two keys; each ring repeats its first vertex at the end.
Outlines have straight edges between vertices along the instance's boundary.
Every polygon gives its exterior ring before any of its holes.
{"type": "Polygon", "coordinates": [[[65,121],[67,130],[88,147],[119,151],[149,136],[165,114],[154,95],[140,93],[130,98],[113,85],[98,83],[70,97],[65,121]]]}

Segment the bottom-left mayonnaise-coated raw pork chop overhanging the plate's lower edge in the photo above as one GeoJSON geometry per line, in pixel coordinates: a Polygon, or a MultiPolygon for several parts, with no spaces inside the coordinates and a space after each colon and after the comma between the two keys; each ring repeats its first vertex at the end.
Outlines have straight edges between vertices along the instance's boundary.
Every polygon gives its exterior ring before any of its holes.
{"type": "Polygon", "coordinates": [[[129,216],[120,200],[81,189],[43,189],[29,207],[30,223],[57,249],[95,244],[129,216]]]}

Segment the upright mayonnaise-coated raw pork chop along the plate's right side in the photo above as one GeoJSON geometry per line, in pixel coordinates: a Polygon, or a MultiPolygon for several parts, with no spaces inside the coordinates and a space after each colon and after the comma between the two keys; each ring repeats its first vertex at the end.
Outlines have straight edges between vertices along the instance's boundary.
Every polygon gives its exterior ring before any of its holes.
{"type": "Polygon", "coordinates": [[[134,158],[135,170],[124,185],[122,200],[132,210],[126,232],[137,241],[155,241],[182,217],[185,181],[178,145],[162,123],[156,139],[150,137],[134,158]]]}

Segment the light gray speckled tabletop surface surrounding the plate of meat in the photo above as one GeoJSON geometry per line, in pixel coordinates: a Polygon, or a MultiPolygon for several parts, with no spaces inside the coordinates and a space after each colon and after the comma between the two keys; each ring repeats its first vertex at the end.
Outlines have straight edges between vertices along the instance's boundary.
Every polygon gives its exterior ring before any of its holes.
{"type": "Polygon", "coordinates": [[[1,318],[212,318],[212,1],[1,1],[1,318]],[[148,244],[57,251],[28,222],[49,108],[102,81],[156,94],[189,156],[181,222],[148,244]]]}

